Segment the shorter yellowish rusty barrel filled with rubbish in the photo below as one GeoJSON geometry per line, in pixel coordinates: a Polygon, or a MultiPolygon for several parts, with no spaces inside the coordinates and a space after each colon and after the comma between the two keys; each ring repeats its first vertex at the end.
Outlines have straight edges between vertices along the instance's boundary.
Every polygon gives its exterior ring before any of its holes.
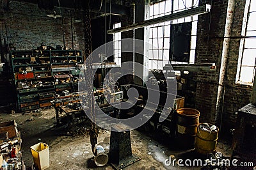
{"type": "MultiPolygon", "coordinates": [[[[219,128],[216,127],[216,130],[208,131],[199,128],[201,124],[202,123],[198,125],[198,130],[196,134],[196,152],[202,155],[214,153],[216,151],[219,128]]],[[[211,124],[209,125],[210,127],[212,126],[211,124]]]]}

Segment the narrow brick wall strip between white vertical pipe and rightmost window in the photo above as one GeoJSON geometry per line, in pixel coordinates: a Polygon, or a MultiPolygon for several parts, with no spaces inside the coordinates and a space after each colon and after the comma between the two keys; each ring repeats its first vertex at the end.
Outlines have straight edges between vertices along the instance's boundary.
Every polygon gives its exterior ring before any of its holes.
{"type": "MultiPolygon", "coordinates": [[[[231,36],[241,36],[245,2],[246,1],[236,1],[231,36]]],[[[231,39],[228,54],[223,124],[230,128],[233,128],[236,122],[235,113],[238,109],[250,102],[250,95],[252,93],[252,86],[236,84],[239,44],[239,38],[231,39]]]]}

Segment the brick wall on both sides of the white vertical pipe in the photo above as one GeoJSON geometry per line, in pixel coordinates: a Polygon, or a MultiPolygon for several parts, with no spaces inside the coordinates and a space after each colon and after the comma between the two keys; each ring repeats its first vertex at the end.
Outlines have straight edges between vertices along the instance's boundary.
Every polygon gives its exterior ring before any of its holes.
{"type": "MultiPolygon", "coordinates": [[[[200,111],[200,121],[210,123],[214,123],[215,118],[223,47],[223,38],[220,37],[223,37],[225,31],[228,1],[219,0],[212,2],[212,13],[198,16],[195,63],[216,63],[217,72],[193,74],[193,79],[196,81],[195,107],[200,111]],[[209,21],[210,17],[211,22],[209,21]]],[[[211,4],[211,2],[208,3],[211,4]]],[[[236,1],[231,36],[241,36],[244,5],[245,1],[236,1]]],[[[240,39],[231,39],[228,52],[222,121],[222,125],[227,127],[226,129],[235,127],[235,113],[239,108],[249,103],[252,91],[251,86],[236,84],[239,43],[240,39]]]]}

